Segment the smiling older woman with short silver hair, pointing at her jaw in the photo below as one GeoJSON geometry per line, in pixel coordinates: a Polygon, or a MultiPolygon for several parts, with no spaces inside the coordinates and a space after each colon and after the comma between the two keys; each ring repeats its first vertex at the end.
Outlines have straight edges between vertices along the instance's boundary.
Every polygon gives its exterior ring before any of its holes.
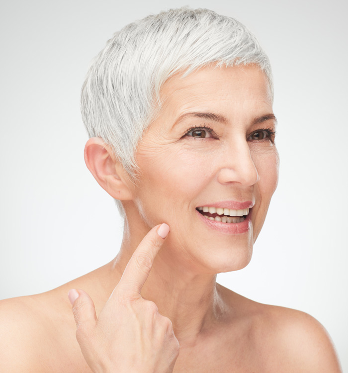
{"type": "Polygon", "coordinates": [[[340,372],[311,316],[216,283],[250,262],[277,185],[272,99],[256,38],[210,10],[149,16],[108,41],[82,92],[85,160],[124,217],[122,246],[81,278],[2,301],[1,371],[340,372]]]}

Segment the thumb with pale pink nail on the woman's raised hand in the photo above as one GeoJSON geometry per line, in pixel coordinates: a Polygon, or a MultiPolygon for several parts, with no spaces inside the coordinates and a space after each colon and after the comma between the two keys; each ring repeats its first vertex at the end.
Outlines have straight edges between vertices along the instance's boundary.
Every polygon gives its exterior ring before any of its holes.
{"type": "Polygon", "coordinates": [[[71,289],[68,292],[70,303],[73,305],[73,313],[76,326],[86,329],[86,326],[94,326],[96,323],[95,307],[91,297],[81,289],[71,289]]]}

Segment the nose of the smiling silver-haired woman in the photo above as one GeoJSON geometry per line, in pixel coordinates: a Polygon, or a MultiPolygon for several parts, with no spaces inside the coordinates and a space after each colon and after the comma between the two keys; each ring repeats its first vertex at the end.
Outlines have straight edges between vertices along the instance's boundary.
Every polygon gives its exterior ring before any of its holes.
{"type": "Polygon", "coordinates": [[[218,173],[219,183],[240,183],[250,187],[258,182],[258,170],[245,139],[230,144],[223,157],[223,166],[218,173]]]}

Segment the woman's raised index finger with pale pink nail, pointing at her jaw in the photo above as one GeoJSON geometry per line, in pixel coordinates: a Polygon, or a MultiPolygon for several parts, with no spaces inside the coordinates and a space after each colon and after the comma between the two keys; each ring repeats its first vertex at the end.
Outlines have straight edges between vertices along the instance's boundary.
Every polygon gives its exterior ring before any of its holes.
{"type": "Polygon", "coordinates": [[[160,226],[157,225],[152,228],[143,238],[134,251],[121,280],[116,286],[118,293],[127,292],[127,295],[140,296],[140,291],[149,277],[155,257],[164,243],[169,230],[169,225],[163,223],[160,226]]]}

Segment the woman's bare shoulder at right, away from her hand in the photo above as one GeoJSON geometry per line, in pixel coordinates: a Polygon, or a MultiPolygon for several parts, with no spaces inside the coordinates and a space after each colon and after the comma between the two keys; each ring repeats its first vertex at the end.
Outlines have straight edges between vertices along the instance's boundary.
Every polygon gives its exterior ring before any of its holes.
{"type": "Polygon", "coordinates": [[[342,372],[328,332],[313,316],[234,292],[230,300],[238,304],[237,317],[248,325],[251,346],[268,372],[342,372]]]}

